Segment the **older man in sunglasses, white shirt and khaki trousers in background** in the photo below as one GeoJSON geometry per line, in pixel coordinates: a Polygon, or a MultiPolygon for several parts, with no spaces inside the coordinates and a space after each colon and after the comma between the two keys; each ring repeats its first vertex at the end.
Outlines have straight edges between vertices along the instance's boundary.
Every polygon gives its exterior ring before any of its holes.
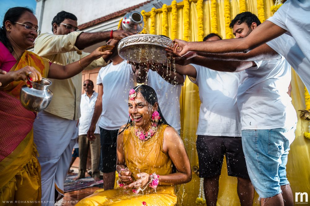
{"type": "Polygon", "coordinates": [[[95,103],[98,97],[98,93],[94,91],[94,83],[86,79],[83,84],[85,93],[81,96],[81,117],[79,118],[78,126],[78,145],[79,145],[79,173],[76,179],[81,179],[85,177],[86,174],[86,164],[88,150],[91,149],[91,176],[96,180],[100,180],[99,158],[100,158],[100,130],[98,127],[98,122],[95,128],[96,139],[94,141],[89,141],[87,139],[87,131],[91,125],[91,118],[94,114],[95,103]]]}

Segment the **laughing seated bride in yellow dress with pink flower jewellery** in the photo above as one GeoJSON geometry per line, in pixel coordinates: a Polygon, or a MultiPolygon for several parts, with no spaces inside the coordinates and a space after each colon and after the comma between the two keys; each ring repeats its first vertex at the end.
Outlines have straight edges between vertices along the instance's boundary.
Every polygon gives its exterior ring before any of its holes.
{"type": "Polygon", "coordinates": [[[192,179],[183,142],[163,117],[155,90],[146,85],[131,89],[128,107],[131,120],[117,137],[120,187],[90,195],[77,205],[175,205],[174,185],[192,179]]]}

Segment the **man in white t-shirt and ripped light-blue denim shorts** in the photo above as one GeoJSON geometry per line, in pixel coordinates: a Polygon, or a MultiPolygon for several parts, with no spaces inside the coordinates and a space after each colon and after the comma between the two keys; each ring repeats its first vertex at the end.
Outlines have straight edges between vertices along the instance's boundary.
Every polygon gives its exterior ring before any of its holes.
{"type": "MultiPolygon", "coordinates": [[[[244,38],[259,24],[254,14],[243,12],[232,20],[230,27],[236,38],[244,38]]],[[[291,78],[290,65],[283,57],[268,61],[214,60],[202,65],[224,71],[230,71],[225,70],[225,66],[235,67],[231,71],[246,69],[241,73],[237,104],[251,182],[260,196],[261,205],[283,205],[284,202],[292,205],[286,163],[290,144],[295,138],[297,117],[286,93],[291,78]]]]}

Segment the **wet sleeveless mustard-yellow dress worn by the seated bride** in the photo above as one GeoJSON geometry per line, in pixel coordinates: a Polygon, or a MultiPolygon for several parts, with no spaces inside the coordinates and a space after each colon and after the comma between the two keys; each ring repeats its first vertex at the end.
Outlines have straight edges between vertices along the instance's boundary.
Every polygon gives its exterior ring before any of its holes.
{"type": "MultiPolygon", "coordinates": [[[[172,173],[173,163],[167,153],[162,149],[164,130],[167,125],[160,125],[157,132],[148,141],[141,141],[131,126],[124,130],[123,145],[126,166],[132,173],[135,181],[136,175],[145,172],[159,175],[172,173]]],[[[143,194],[134,194],[131,189],[124,190],[123,187],[113,190],[101,191],[81,200],[77,205],[143,205],[162,206],[175,205],[177,198],[174,186],[158,185],[156,193],[147,187],[143,194]]]]}

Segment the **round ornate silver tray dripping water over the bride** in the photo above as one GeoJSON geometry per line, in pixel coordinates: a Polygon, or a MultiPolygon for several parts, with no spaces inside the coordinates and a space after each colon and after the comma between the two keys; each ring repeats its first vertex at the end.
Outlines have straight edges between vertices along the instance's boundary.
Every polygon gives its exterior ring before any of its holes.
{"type": "Polygon", "coordinates": [[[127,61],[136,63],[167,62],[166,48],[173,49],[171,39],[153,34],[127,36],[118,43],[118,54],[127,61]]]}

